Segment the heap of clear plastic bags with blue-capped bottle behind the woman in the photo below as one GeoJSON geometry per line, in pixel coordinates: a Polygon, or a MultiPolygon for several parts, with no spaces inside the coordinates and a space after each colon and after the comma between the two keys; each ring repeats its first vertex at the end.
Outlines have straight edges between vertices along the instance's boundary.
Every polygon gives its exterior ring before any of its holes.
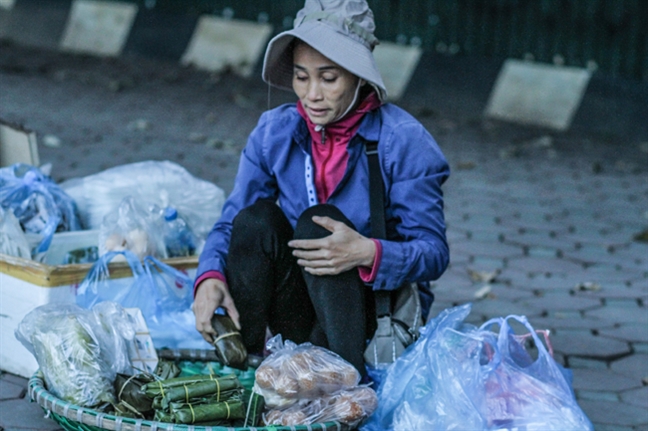
{"type": "Polygon", "coordinates": [[[187,249],[199,254],[225,202],[222,189],[168,161],[117,166],[61,188],[76,202],[84,228],[100,230],[100,254],[130,250],[140,258],[175,257],[167,227],[176,220],[191,232],[187,249]]]}

